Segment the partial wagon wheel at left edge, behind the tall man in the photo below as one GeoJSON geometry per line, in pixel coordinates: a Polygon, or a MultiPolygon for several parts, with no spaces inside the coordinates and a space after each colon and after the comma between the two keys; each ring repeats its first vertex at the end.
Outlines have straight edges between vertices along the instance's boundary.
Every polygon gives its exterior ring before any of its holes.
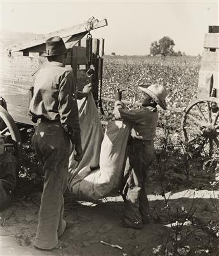
{"type": "Polygon", "coordinates": [[[22,147],[22,139],[20,132],[15,124],[13,118],[11,118],[8,111],[0,105],[0,134],[4,135],[5,147],[8,151],[13,151],[13,154],[20,158],[20,152],[22,147]]]}

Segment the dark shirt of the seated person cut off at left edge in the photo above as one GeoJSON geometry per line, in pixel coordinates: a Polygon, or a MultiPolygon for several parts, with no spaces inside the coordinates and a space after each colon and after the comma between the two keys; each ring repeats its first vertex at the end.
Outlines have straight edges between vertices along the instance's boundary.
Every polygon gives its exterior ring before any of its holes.
{"type": "Polygon", "coordinates": [[[18,162],[15,156],[5,152],[0,156],[0,179],[4,189],[13,191],[16,186],[18,162]]]}

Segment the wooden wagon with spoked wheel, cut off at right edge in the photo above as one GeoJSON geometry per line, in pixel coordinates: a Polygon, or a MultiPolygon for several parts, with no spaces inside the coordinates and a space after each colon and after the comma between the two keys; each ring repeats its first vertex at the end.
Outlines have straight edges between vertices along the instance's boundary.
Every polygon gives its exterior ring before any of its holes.
{"type": "Polygon", "coordinates": [[[212,156],[219,148],[219,26],[209,26],[204,35],[197,93],[183,111],[182,137],[212,156]]]}

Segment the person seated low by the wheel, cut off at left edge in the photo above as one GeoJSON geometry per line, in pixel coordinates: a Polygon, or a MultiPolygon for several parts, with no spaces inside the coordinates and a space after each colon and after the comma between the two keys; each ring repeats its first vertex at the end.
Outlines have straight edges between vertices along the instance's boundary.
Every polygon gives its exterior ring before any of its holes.
{"type": "Polygon", "coordinates": [[[0,134],[0,211],[8,208],[17,183],[18,161],[5,151],[4,136],[0,134]]]}

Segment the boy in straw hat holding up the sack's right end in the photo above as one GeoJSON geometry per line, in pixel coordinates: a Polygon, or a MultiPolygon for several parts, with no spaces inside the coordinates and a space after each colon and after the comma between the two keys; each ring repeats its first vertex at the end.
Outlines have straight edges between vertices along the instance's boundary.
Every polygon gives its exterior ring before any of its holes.
{"type": "Polygon", "coordinates": [[[128,111],[121,94],[116,94],[115,116],[131,122],[131,137],[128,142],[128,161],[124,172],[122,196],[125,201],[123,227],[140,229],[149,223],[149,201],[147,199],[147,172],[154,158],[154,137],[158,114],[157,104],[166,110],[166,90],[160,84],[148,88],[138,87],[143,91],[142,107],[128,111]]]}

